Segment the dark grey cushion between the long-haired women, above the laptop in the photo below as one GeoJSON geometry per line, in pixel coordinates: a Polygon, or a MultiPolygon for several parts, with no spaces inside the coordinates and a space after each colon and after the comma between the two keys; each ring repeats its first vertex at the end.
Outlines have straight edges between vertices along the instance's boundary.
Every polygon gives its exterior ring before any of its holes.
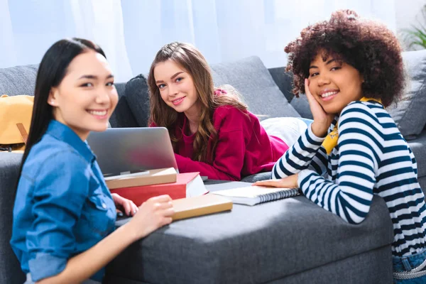
{"type": "Polygon", "coordinates": [[[126,98],[129,107],[140,127],[148,126],[149,92],[146,77],[142,74],[132,78],[126,84],[126,98]]]}

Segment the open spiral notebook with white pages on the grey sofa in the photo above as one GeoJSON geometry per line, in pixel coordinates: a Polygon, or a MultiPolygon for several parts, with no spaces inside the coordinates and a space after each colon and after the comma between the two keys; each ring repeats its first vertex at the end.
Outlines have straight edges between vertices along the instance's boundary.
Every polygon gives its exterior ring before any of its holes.
{"type": "Polygon", "coordinates": [[[299,188],[251,186],[232,188],[231,190],[218,190],[211,193],[228,197],[237,204],[253,206],[263,202],[300,195],[301,192],[299,188]]]}

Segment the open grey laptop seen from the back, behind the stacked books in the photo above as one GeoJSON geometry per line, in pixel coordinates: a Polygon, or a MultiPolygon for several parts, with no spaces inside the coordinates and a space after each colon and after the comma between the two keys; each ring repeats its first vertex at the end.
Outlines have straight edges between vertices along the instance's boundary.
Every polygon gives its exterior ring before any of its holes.
{"type": "Polygon", "coordinates": [[[143,170],[175,168],[175,154],[165,127],[116,128],[92,131],[87,143],[97,156],[104,176],[143,170]]]}

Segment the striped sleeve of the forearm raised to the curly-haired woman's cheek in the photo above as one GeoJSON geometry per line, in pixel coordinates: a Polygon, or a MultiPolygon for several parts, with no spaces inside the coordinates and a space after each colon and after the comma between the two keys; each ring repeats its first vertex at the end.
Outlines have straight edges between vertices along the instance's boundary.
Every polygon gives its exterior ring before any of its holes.
{"type": "Polygon", "coordinates": [[[326,173],[327,153],[321,147],[322,141],[324,138],[315,136],[309,126],[297,142],[275,163],[272,178],[285,178],[307,168],[315,170],[320,175],[326,173]]]}

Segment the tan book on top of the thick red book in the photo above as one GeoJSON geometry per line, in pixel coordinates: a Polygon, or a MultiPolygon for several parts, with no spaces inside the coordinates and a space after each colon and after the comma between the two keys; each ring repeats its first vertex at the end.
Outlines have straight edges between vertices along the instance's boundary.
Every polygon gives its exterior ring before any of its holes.
{"type": "Polygon", "coordinates": [[[174,168],[146,170],[140,173],[114,175],[105,178],[110,190],[123,187],[136,187],[141,185],[158,185],[161,183],[176,182],[178,173],[174,168]]]}

